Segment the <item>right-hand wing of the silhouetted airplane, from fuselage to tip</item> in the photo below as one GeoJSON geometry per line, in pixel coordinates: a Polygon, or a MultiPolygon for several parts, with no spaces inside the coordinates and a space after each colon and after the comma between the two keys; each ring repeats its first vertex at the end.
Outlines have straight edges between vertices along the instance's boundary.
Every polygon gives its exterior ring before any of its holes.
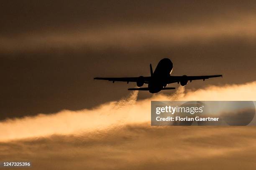
{"type": "Polygon", "coordinates": [[[205,81],[205,79],[212,78],[212,77],[222,77],[222,75],[170,76],[170,78],[168,80],[168,84],[169,83],[174,83],[174,82],[181,82],[181,81],[190,81],[190,82],[192,82],[192,80],[204,80],[205,81]]]}

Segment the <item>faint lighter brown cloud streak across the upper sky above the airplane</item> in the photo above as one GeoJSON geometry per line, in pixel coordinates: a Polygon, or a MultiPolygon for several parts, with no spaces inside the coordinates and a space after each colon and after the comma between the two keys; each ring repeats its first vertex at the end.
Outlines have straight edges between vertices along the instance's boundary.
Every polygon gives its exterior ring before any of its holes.
{"type": "Polygon", "coordinates": [[[65,49],[104,50],[118,47],[125,50],[138,50],[145,47],[176,46],[192,42],[209,43],[216,39],[243,38],[254,42],[256,36],[253,20],[255,15],[244,14],[232,19],[218,19],[218,22],[197,24],[126,24],[100,28],[79,28],[60,32],[23,33],[2,37],[0,52],[29,52],[36,50],[65,49]]]}

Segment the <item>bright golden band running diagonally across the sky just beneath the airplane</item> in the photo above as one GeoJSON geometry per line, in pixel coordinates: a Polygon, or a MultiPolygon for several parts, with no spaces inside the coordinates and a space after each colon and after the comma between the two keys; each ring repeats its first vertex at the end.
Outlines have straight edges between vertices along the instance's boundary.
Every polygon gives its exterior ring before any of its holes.
{"type": "Polygon", "coordinates": [[[75,135],[109,128],[150,122],[151,100],[255,100],[256,81],[242,85],[209,86],[184,92],[179,87],[174,95],[154,95],[138,100],[132,92],[120,101],[108,102],[88,110],[62,110],[50,115],[9,119],[0,122],[0,141],[38,138],[50,135],[75,135]]]}

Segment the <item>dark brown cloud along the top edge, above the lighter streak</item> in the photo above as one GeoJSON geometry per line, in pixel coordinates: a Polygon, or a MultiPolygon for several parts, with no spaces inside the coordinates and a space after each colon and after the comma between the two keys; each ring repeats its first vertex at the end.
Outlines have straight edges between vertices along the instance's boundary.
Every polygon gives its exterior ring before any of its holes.
{"type": "Polygon", "coordinates": [[[11,0],[2,3],[1,35],[30,32],[59,32],[77,28],[134,23],[189,24],[234,19],[241,13],[254,13],[255,2],[168,0],[11,0]]]}

